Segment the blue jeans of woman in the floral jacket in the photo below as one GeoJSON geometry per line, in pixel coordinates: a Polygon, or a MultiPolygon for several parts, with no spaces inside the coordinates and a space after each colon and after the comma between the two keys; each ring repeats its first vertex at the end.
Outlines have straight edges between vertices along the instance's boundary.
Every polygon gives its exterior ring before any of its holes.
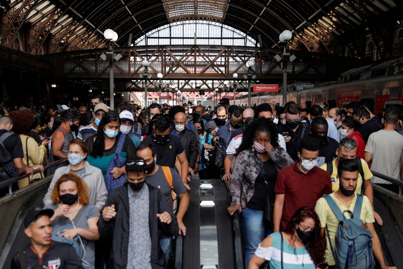
{"type": "Polygon", "coordinates": [[[242,209],[241,223],[245,239],[245,268],[248,268],[249,260],[252,258],[260,242],[270,234],[265,230],[263,223],[263,210],[254,210],[248,207],[242,209]]]}

